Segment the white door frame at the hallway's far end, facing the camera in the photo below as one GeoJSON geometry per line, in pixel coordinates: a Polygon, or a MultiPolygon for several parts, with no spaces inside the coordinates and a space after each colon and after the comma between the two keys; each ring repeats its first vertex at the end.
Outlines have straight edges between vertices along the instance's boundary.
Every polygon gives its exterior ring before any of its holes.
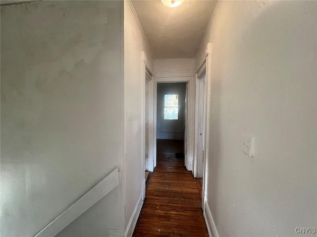
{"type": "MultiPolygon", "coordinates": [[[[154,139],[156,144],[156,129],[157,129],[157,88],[158,83],[174,83],[186,82],[188,84],[188,101],[186,101],[187,115],[185,118],[185,137],[187,138],[185,154],[185,166],[187,170],[193,170],[194,157],[194,129],[195,129],[195,72],[194,71],[177,71],[177,72],[155,72],[155,86],[154,86],[154,139]]],[[[153,169],[157,165],[156,145],[153,169]]]]}

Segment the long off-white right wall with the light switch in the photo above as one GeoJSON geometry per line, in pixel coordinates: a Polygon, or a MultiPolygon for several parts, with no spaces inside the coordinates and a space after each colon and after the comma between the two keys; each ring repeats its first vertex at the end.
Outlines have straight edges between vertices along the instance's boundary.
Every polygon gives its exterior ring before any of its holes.
{"type": "Polygon", "coordinates": [[[204,42],[207,201],[219,236],[317,228],[317,2],[221,1],[204,42]],[[242,133],[255,136],[253,158],[242,133]]]}

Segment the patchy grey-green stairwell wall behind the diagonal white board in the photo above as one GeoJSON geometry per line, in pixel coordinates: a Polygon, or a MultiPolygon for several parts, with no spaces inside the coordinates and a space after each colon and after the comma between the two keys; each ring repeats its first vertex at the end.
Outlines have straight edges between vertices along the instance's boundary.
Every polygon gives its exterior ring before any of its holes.
{"type": "MultiPolygon", "coordinates": [[[[1,6],[1,236],[35,236],[120,167],[122,5],[1,6]]],[[[58,237],[123,229],[120,189],[58,237]]]]}

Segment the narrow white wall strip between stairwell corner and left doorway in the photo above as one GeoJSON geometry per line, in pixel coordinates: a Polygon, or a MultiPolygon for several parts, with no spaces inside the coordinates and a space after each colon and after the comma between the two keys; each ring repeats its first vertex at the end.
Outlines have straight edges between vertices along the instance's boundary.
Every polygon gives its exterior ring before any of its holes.
{"type": "Polygon", "coordinates": [[[144,188],[145,78],[141,52],[153,64],[152,53],[144,39],[128,1],[124,1],[124,198],[125,227],[129,224],[144,188]]]}

